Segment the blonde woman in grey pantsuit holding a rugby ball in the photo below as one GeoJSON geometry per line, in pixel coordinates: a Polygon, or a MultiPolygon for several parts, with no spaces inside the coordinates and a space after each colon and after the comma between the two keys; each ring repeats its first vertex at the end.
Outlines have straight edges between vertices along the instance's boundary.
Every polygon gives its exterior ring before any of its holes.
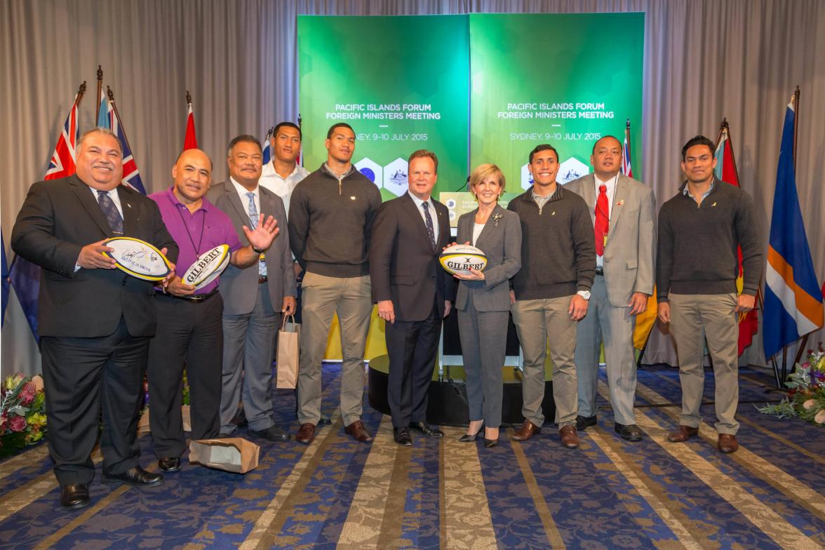
{"type": "Polygon", "coordinates": [[[459,313],[464,372],[467,374],[469,426],[460,441],[474,441],[484,425],[484,446],[498,443],[502,424],[502,367],[510,315],[508,280],[521,269],[521,223],[518,215],[497,204],[504,174],[482,164],[469,178],[479,208],[459,218],[457,242],[480,248],[487,256],[483,271],[460,279],[455,307],[459,313]]]}

